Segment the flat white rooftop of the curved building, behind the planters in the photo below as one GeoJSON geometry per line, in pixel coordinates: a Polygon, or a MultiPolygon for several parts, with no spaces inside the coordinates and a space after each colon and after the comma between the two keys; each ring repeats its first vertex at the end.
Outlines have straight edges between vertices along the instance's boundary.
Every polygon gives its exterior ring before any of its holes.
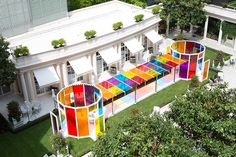
{"type": "Polygon", "coordinates": [[[124,27],[135,24],[134,16],[144,14],[144,19],[151,12],[120,1],[110,1],[99,5],[79,9],[59,19],[38,27],[24,34],[9,38],[10,47],[27,46],[30,54],[52,50],[51,41],[64,38],[67,45],[85,41],[84,32],[94,29],[97,36],[113,32],[112,24],[123,22],[124,27]]]}

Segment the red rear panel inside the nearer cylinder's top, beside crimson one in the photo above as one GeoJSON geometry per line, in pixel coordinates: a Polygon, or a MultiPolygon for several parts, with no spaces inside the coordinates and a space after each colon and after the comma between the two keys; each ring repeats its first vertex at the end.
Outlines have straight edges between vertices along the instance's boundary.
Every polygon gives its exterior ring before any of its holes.
{"type": "Polygon", "coordinates": [[[74,86],[75,106],[85,106],[83,85],[74,86]]]}

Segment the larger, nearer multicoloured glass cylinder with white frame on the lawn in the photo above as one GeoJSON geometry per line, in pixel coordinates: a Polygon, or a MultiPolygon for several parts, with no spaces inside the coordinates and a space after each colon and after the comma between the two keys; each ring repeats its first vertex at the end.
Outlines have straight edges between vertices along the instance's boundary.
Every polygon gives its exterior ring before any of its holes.
{"type": "Polygon", "coordinates": [[[64,136],[97,139],[105,130],[100,89],[88,84],[73,84],[57,94],[60,131],[64,136]]]}

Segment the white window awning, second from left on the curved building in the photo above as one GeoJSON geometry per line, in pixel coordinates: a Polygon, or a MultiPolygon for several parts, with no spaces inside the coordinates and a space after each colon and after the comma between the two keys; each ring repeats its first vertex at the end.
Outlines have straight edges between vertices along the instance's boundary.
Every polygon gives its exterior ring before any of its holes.
{"type": "Polygon", "coordinates": [[[79,59],[75,59],[69,62],[77,76],[93,71],[91,62],[87,57],[81,57],[79,59]]]}

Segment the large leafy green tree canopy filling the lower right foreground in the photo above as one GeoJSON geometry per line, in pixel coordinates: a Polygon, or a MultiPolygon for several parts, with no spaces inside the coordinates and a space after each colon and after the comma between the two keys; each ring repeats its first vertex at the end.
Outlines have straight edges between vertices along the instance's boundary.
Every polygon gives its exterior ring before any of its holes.
{"type": "Polygon", "coordinates": [[[236,89],[194,88],[165,115],[135,114],[100,137],[103,156],[236,156],[236,89]]]}

